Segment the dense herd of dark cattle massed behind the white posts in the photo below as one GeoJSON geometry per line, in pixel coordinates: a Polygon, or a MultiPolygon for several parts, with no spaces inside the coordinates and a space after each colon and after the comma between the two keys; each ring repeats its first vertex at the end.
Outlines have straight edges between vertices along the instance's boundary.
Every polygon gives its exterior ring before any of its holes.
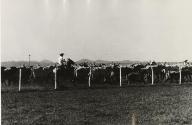
{"type": "Polygon", "coordinates": [[[21,83],[54,84],[58,86],[65,81],[72,84],[150,84],[152,79],[155,84],[171,84],[192,82],[192,66],[157,64],[132,64],[121,66],[120,64],[75,64],[72,60],[64,66],[22,66],[6,68],[1,66],[1,84],[18,85],[19,71],[21,70],[21,83]],[[121,80],[120,80],[121,79],[121,80]]]}

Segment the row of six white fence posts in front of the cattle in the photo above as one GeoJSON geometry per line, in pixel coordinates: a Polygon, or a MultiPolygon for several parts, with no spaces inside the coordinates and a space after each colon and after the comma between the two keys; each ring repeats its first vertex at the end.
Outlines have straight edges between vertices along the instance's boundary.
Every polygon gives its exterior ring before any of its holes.
{"type": "MultiPolygon", "coordinates": [[[[155,67],[155,66],[150,66],[150,67],[151,67],[151,84],[154,85],[153,67],[155,67]]],[[[121,69],[122,69],[122,67],[120,66],[119,67],[119,77],[120,77],[120,79],[119,79],[119,86],[120,87],[122,86],[121,69]]],[[[181,85],[181,70],[182,70],[182,67],[179,67],[179,84],[180,85],[181,85]]],[[[54,79],[55,86],[54,86],[54,89],[57,89],[57,68],[55,69],[54,73],[55,73],[55,79],[54,79]]],[[[22,70],[20,68],[19,69],[19,92],[21,91],[21,76],[22,76],[22,70]]],[[[89,71],[88,86],[91,87],[91,68],[90,68],[90,71],[89,71]]]]}

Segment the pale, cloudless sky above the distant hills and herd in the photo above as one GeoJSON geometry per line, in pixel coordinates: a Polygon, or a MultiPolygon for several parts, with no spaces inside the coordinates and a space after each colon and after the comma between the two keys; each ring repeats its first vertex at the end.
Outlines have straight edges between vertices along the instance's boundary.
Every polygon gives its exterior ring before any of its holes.
{"type": "Polygon", "coordinates": [[[2,0],[1,61],[192,60],[191,0],[2,0]]]}

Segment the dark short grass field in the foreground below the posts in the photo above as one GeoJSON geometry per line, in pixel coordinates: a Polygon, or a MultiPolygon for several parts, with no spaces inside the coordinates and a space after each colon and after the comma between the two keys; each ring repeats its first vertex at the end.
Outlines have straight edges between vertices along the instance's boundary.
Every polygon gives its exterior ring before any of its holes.
{"type": "Polygon", "coordinates": [[[1,93],[3,125],[191,125],[192,86],[1,93]]]}

